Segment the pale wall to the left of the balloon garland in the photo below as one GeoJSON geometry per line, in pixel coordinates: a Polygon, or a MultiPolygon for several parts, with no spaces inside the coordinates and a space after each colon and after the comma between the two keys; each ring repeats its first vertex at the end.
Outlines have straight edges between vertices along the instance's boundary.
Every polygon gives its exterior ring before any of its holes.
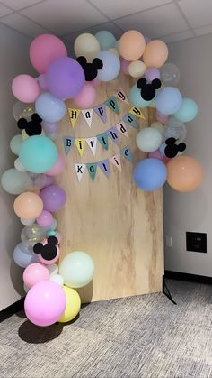
{"type": "MultiPolygon", "coordinates": [[[[11,83],[16,75],[32,71],[30,43],[30,38],[0,23],[0,175],[13,168],[15,155],[9,142],[19,131],[12,115],[16,100],[11,83]]],[[[22,269],[13,263],[13,248],[20,243],[22,229],[13,212],[14,198],[0,185],[0,310],[19,300],[22,294],[22,269]]]]}

